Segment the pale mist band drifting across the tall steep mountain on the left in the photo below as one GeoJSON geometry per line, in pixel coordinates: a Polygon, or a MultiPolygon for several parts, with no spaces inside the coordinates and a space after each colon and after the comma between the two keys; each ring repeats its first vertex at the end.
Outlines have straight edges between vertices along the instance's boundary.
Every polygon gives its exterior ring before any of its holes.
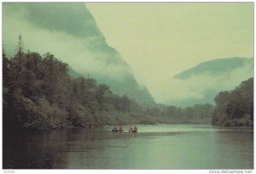
{"type": "Polygon", "coordinates": [[[95,35],[79,37],[66,31],[48,30],[45,27],[33,25],[22,14],[11,11],[3,13],[3,44],[6,54],[11,57],[15,54],[15,45],[21,34],[25,50],[44,53],[53,53],[57,59],[66,62],[80,74],[93,74],[112,77],[122,80],[130,68],[125,62],[109,61],[110,56],[119,56],[117,53],[108,53],[97,48],[102,37],[95,35]],[[20,15],[17,15],[18,13],[20,15]],[[96,46],[95,46],[96,45],[96,46]],[[124,71],[125,70],[125,71],[124,71]]]}

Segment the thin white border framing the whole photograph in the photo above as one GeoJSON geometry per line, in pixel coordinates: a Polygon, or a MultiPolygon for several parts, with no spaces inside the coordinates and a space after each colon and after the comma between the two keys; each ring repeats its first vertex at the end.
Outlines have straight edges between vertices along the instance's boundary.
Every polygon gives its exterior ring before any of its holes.
{"type": "MultiPolygon", "coordinates": [[[[1,26],[2,26],[2,8],[3,8],[3,3],[7,3],[7,2],[70,2],[70,3],[74,3],[72,1],[67,1],[67,0],[62,0],[62,1],[51,1],[51,0],[44,0],[44,1],[39,1],[39,0],[1,0],[1,26]]],[[[101,0],[90,0],[90,1],[83,1],[83,0],[76,0],[75,2],[82,2],[82,3],[254,3],[253,1],[238,1],[238,0],[225,0],[225,1],[221,1],[221,0],[215,0],[214,2],[212,1],[191,1],[191,0],[185,0],[185,1],[168,1],[168,0],[161,0],[161,1],[154,1],[154,0],[147,0],[147,1],[135,1],[135,0],[129,0],[129,1],[123,1],[123,0],[119,0],[119,1],[110,1],[110,0],[105,0],[105,1],[101,1],[101,0]]],[[[0,29],[1,33],[2,33],[2,27],[0,29]]],[[[254,13],[254,32],[255,32],[255,13],[254,13]]],[[[3,40],[2,38],[2,34],[1,34],[1,40],[3,40]]],[[[255,37],[254,37],[254,43],[255,43],[255,37]]],[[[254,50],[255,50],[255,44],[254,44],[254,50]]],[[[2,49],[1,49],[1,55],[2,55],[2,49]]],[[[2,59],[1,59],[2,60],[2,59]]],[[[255,62],[254,62],[255,64],[255,62]]],[[[1,76],[0,79],[3,79],[3,70],[2,70],[2,61],[0,62],[0,70],[1,70],[1,76]]],[[[254,70],[254,76],[256,75],[255,70],[254,70]]],[[[3,85],[2,82],[0,84],[0,100],[1,100],[1,107],[0,107],[0,112],[1,112],[1,119],[0,119],[0,125],[2,126],[3,124],[3,117],[2,117],[2,113],[3,113],[3,108],[2,108],[2,104],[3,104],[3,85]]],[[[255,92],[255,79],[254,79],[254,92],[255,92]]],[[[255,94],[254,94],[254,101],[255,100],[255,94]]],[[[254,115],[255,115],[255,102],[254,102],[254,115]]],[[[255,119],[254,119],[254,125],[255,125],[255,119]]],[[[3,127],[1,127],[0,129],[0,139],[1,139],[1,143],[3,144],[2,140],[3,140],[3,127]]],[[[255,132],[255,127],[253,129],[253,131],[255,132]]],[[[255,144],[255,133],[254,133],[254,144],[255,144]]],[[[0,165],[1,165],[1,173],[5,173],[5,174],[12,174],[12,173],[19,173],[19,174],[30,174],[30,173],[35,173],[37,172],[37,174],[45,174],[45,173],[60,173],[60,174],[66,174],[66,173],[91,173],[91,174],[102,174],[102,173],[111,173],[111,174],[131,174],[131,173],[163,173],[163,174],[170,174],[170,173],[177,173],[177,174],[183,174],[183,173],[210,173],[209,171],[211,170],[3,170],[3,151],[2,151],[2,146],[0,148],[0,154],[1,154],[1,158],[0,158],[0,165]]],[[[255,157],[255,149],[253,150],[254,152],[254,157],[255,157]]],[[[254,168],[255,168],[255,159],[253,160],[254,162],[254,168]]],[[[224,171],[227,170],[212,170],[212,171],[218,171],[219,173],[224,173],[224,171]]],[[[230,171],[238,171],[238,170],[230,170],[230,171]]],[[[240,171],[240,170],[239,170],[240,171]]],[[[245,171],[245,170],[241,170],[241,171],[245,171]]],[[[250,171],[250,170],[248,170],[250,171]]],[[[254,170],[252,170],[252,173],[254,173],[254,170]]]]}

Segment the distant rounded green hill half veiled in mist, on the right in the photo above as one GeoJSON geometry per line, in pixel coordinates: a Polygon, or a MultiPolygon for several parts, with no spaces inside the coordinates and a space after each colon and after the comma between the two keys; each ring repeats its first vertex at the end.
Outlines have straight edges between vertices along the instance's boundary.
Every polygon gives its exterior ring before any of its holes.
{"type": "Polygon", "coordinates": [[[183,88],[183,98],[173,98],[169,104],[186,107],[193,104],[214,104],[214,97],[229,91],[253,76],[253,59],[213,59],[184,70],[172,78],[183,88]]]}

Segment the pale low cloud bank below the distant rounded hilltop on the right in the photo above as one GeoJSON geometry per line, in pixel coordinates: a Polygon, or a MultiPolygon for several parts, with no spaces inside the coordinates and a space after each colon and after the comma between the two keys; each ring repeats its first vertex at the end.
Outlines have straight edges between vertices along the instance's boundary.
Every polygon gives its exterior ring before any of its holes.
{"type": "Polygon", "coordinates": [[[196,103],[212,103],[214,97],[221,91],[229,91],[237,87],[241,81],[253,76],[253,65],[245,64],[235,70],[225,71],[217,75],[204,73],[180,80],[172,78],[166,81],[166,86],[155,93],[161,103],[187,105],[196,103]]]}

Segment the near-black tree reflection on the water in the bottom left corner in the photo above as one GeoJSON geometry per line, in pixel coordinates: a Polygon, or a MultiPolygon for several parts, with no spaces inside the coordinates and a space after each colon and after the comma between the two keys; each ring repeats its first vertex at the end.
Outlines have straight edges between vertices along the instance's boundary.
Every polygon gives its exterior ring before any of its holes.
{"type": "Polygon", "coordinates": [[[50,169],[54,168],[58,154],[66,149],[67,133],[20,132],[10,134],[3,143],[3,168],[50,169]]]}

